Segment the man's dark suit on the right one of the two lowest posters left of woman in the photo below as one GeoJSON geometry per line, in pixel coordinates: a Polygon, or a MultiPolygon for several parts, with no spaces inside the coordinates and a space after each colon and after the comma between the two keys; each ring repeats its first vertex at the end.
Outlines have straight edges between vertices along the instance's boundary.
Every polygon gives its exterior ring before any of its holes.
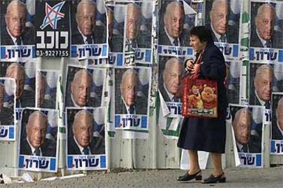
{"type": "MultiPolygon", "coordinates": [[[[102,137],[93,137],[89,147],[92,155],[105,154],[105,140],[102,137]]],[[[68,138],[68,155],[83,155],[74,137],[68,138]]]]}

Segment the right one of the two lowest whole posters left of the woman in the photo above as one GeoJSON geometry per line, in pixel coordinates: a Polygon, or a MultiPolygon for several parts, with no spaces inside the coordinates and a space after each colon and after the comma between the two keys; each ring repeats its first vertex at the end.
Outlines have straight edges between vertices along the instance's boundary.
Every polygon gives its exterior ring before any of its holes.
{"type": "Polygon", "coordinates": [[[106,170],[105,110],[66,108],[68,170],[106,170]]]}

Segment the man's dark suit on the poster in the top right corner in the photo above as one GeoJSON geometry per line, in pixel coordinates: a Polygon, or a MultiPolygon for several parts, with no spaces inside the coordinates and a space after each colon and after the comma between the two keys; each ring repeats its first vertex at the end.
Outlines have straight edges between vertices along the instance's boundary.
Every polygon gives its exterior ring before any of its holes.
{"type": "MultiPolygon", "coordinates": [[[[256,29],[251,33],[250,40],[251,47],[264,48],[262,45],[260,38],[258,38],[258,34],[256,33],[256,29]]],[[[273,36],[271,38],[271,48],[282,49],[283,48],[283,33],[279,31],[274,31],[273,36]]]]}

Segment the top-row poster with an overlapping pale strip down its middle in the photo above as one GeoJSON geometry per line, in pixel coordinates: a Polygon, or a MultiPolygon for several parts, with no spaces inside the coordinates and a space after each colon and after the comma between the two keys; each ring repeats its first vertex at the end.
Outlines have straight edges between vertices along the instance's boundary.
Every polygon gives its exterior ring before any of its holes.
{"type": "Polygon", "coordinates": [[[116,66],[152,64],[152,15],[148,0],[107,5],[109,61],[116,66]]]}

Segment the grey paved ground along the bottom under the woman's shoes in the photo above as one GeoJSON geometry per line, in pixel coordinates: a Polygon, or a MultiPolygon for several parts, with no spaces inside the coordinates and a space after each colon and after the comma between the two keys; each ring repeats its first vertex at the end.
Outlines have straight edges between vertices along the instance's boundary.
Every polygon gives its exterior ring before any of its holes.
{"type": "MultiPolygon", "coordinates": [[[[148,170],[135,172],[93,172],[80,178],[17,183],[0,187],[283,187],[283,166],[265,169],[230,168],[225,170],[226,183],[203,185],[196,181],[179,183],[176,177],[182,170],[148,170]]],[[[211,170],[204,170],[206,178],[211,170]]]]}

